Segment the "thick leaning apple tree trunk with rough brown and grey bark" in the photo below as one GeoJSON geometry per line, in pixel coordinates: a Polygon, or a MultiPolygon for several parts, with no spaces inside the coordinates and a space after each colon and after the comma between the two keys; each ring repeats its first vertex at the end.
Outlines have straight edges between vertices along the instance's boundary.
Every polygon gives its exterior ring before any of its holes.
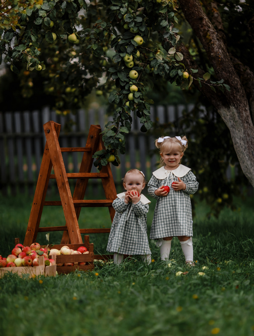
{"type": "MultiPolygon", "coordinates": [[[[254,126],[243,83],[228,54],[222,32],[218,33],[214,28],[200,1],[179,0],[179,3],[186,20],[206,50],[218,80],[223,78],[224,83],[231,87],[230,92],[224,92],[223,98],[221,95],[210,94],[204,88],[201,91],[215,106],[230,130],[243,173],[254,187],[254,126]]],[[[216,26],[221,30],[221,19],[218,15],[219,13],[216,12],[216,17],[213,16],[213,18],[216,26]]],[[[184,56],[186,57],[187,53],[184,56]]],[[[184,62],[185,64],[191,63],[188,58],[184,58],[184,62]]],[[[253,96],[251,96],[251,101],[253,101],[253,96]]]]}

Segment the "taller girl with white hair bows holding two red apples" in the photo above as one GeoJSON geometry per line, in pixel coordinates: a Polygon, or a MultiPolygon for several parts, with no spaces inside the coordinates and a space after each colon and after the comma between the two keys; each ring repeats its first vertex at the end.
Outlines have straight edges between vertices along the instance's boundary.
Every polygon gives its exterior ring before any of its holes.
{"type": "Polygon", "coordinates": [[[160,257],[165,260],[169,258],[172,238],[177,236],[186,264],[194,266],[190,194],[198,190],[199,183],[191,169],[181,164],[187,142],[186,136],[165,136],[155,141],[163,166],[153,172],[148,183],[148,194],[157,200],[150,238],[158,240],[160,257]]]}

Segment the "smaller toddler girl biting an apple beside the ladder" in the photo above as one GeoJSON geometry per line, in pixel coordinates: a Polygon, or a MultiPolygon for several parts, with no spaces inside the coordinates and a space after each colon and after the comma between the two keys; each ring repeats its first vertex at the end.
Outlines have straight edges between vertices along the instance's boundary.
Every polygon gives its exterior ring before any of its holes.
{"type": "Polygon", "coordinates": [[[147,212],[151,203],[141,194],[146,185],[145,175],[138,169],[129,170],[123,179],[126,192],[117,194],[112,206],[116,213],[111,226],[107,251],[114,252],[114,263],[120,264],[124,254],[142,255],[151,262],[147,238],[147,212]]]}

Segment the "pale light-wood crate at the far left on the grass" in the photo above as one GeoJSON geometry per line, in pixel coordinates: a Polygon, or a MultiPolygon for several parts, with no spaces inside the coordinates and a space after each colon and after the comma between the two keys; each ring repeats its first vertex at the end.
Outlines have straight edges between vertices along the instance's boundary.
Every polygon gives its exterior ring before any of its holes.
{"type": "MultiPolygon", "coordinates": [[[[52,259],[56,260],[55,256],[52,259]]],[[[22,275],[29,275],[29,278],[34,278],[39,275],[45,277],[56,275],[56,265],[45,266],[45,261],[43,256],[38,257],[39,266],[20,266],[20,267],[2,267],[0,268],[0,278],[10,273],[17,273],[20,277],[22,275]]]]}

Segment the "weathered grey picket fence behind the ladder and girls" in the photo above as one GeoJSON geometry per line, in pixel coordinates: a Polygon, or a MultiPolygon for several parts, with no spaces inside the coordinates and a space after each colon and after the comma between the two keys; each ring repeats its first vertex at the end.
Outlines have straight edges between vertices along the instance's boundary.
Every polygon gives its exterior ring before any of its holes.
{"type": "MultiPolygon", "coordinates": [[[[190,110],[192,105],[153,107],[151,120],[159,120],[160,124],[173,122],[181,118],[184,109],[190,110]]],[[[112,118],[106,115],[103,108],[80,110],[67,118],[56,115],[49,107],[36,111],[0,112],[0,190],[3,195],[15,195],[26,190],[34,194],[46,142],[43,124],[49,120],[62,125],[59,135],[61,147],[84,147],[90,125],[99,124],[103,129],[112,118]],[[71,122],[68,132],[64,128],[66,119],[71,122]]],[[[140,126],[139,120],[133,115],[132,131],[126,135],[126,154],[119,155],[119,167],[111,164],[117,192],[122,191],[122,178],[130,168],[142,170],[147,180],[152,171],[158,168],[159,156],[155,151],[154,136],[151,132],[142,133],[140,126]]],[[[62,155],[66,172],[78,172],[82,153],[62,155]]],[[[92,171],[98,170],[93,167],[92,171]]],[[[70,183],[72,188],[75,181],[70,183]]],[[[100,192],[100,184],[98,180],[91,180],[91,184],[89,182],[94,194],[100,192]]],[[[55,187],[55,182],[50,180],[49,190],[55,187]]]]}

